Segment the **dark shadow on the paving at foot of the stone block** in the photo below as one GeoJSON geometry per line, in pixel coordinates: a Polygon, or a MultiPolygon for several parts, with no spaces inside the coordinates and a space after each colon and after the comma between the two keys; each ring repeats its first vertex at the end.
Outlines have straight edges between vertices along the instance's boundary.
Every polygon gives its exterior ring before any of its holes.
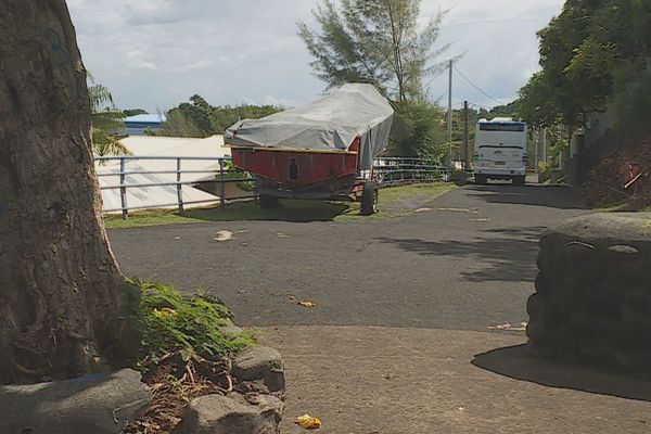
{"type": "Polygon", "coordinates": [[[480,354],[472,365],[548,387],[651,401],[651,382],[536,357],[526,345],[480,354]]]}

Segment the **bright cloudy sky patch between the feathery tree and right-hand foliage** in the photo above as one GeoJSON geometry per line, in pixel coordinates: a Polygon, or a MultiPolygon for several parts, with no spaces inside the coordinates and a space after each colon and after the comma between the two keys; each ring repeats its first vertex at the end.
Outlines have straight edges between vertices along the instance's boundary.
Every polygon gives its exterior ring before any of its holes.
{"type": "MultiPolygon", "coordinates": [[[[538,69],[536,31],[561,12],[563,3],[563,0],[424,0],[424,14],[435,13],[439,7],[448,10],[439,41],[452,43],[450,53],[464,53],[457,67],[493,97],[486,97],[455,74],[455,106],[464,100],[484,106],[512,101],[538,69]]],[[[431,92],[447,99],[447,74],[433,81],[431,92]]]]}

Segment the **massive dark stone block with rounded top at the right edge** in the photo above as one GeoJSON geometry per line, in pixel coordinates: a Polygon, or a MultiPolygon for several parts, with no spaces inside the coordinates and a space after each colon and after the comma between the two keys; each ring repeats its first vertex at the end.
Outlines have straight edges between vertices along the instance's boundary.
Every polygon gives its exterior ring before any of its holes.
{"type": "Polygon", "coordinates": [[[546,231],[532,346],[651,379],[651,214],[592,214],[546,231]]]}

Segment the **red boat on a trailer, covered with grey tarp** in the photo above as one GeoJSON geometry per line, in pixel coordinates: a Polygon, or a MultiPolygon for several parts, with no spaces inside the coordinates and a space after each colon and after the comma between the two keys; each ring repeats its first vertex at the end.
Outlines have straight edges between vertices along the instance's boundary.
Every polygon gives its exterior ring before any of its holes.
{"type": "Polygon", "coordinates": [[[263,207],[278,199],[360,199],[378,207],[373,161],[386,149],[394,111],[372,85],[345,85],[311,104],[228,128],[233,165],[256,176],[263,207]]]}

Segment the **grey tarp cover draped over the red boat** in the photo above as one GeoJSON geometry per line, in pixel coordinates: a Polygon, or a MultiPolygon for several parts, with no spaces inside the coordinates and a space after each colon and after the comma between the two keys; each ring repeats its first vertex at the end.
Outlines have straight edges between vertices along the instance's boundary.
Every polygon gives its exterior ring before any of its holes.
{"type": "Polygon", "coordinates": [[[372,85],[344,85],[311,104],[230,127],[224,141],[233,146],[346,151],[361,138],[362,169],[388,143],[393,108],[372,85]]]}

